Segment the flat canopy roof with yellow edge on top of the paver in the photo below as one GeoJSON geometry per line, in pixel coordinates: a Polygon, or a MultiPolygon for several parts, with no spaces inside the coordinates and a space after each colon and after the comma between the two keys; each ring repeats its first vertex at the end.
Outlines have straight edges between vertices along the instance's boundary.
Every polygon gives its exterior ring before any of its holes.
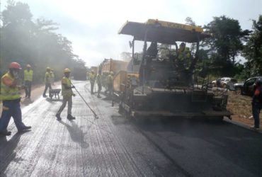
{"type": "Polygon", "coordinates": [[[149,19],[146,23],[137,23],[127,21],[118,34],[132,35],[135,40],[144,40],[147,31],[147,41],[159,42],[173,45],[176,41],[197,42],[210,37],[203,33],[203,28],[198,26],[183,25],[180,23],[171,23],[149,19]]]}

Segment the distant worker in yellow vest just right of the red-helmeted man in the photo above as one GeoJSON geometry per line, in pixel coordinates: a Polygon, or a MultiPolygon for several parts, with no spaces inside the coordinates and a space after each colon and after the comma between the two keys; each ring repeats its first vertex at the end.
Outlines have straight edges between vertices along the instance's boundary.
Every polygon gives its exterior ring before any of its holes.
{"type": "Polygon", "coordinates": [[[31,86],[33,81],[33,70],[31,69],[30,64],[27,64],[25,71],[23,71],[23,80],[25,85],[25,98],[30,98],[31,86]]]}

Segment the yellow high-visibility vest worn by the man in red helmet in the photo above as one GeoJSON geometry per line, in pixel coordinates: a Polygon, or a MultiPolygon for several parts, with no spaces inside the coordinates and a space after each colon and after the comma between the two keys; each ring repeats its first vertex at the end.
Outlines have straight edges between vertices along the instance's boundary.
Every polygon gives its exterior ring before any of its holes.
{"type": "Polygon", "coordinates": [[[11,76],[10,72],[7,72],[6,74],[4,74],[4,76],[2,76],[0,100],[11,101],[21,98],[18,88],[11,88],[10,86],[6,86],[6,84],[4,84],[4,79],[10,79],[12,82],[15,81],[13,76],[11,76]]]}

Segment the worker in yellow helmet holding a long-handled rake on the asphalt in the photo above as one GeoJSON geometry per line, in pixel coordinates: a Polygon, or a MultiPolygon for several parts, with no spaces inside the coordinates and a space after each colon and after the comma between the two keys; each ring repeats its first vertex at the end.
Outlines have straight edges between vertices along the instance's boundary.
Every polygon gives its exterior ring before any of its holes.
{"type": "Polygon", "coordinates": [[[61,113],[64,110],[65,106],[67,105],[68,102],[68,108],[67,108],[67,119],[68,120],[74,120],[72,116],[72,96],[75,96],[75,94],[72,91],[72,86],[71,80],[69,79],[70,76],[70,69],[66,68],[64,69],[64,77],[62,78],[62,96],[63,96],[63,103],[61,107],[59,108],[57,114],[55,115],[57,117],[57,120],[61,120],[61,113]]]}

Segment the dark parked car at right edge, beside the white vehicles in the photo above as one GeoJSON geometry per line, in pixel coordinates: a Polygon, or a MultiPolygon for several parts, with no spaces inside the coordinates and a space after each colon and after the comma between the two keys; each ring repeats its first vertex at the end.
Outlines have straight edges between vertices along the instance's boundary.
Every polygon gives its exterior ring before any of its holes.
{"type": "Polygon", "coordinates": [[[234,84],[234,89],[237,91],[237,94],[253,96],[258,79],[262,79],[262,76],[251,77],[246,79],[244,83],[234,84]]]}

